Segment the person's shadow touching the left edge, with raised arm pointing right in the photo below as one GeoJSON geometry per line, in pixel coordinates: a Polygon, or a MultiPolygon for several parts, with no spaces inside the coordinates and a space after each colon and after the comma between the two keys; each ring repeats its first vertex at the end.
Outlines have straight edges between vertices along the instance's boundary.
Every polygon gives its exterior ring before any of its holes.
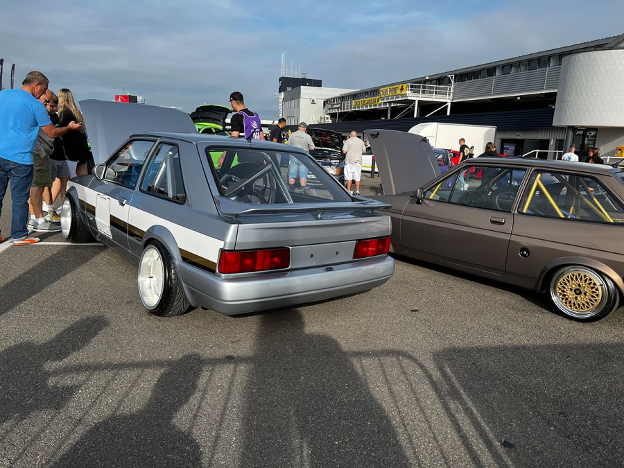
{"type": "Polygon", "coordinates": [[[0,353],[0,424],[28,417],[36,410],[60,410],[76,386],[49,385],[50,361],[62,361],[79,352],[108,326],[103,317],[90,317],[71,324],[42,345],[13,345],[0,353]]]}

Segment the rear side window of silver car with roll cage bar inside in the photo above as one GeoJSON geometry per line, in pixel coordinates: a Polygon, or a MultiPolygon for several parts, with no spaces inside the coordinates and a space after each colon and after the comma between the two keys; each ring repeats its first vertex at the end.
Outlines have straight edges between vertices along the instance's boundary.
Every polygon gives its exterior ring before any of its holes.
{"type": "Polygon", "coordinates": [[[187,200],[177,146],[159,144],[146,170],[141,191],[177,202],[187,200]]]}

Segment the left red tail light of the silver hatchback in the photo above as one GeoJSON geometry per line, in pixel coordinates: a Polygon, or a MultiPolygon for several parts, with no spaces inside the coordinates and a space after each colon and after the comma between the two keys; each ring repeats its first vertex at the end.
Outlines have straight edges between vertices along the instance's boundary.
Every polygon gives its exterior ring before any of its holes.
{"type": "Polygon", "coordinates": [[[263,250],[222,250],[219,256],[220,273],[249,273],[282,270],[291,265],[288,248],[263,250]]]}

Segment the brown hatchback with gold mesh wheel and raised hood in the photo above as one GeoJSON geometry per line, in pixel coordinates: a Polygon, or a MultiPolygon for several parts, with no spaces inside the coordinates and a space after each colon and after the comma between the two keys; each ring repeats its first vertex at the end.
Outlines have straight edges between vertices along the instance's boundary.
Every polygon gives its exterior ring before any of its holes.
{"type": "Polygon", "coordinates": [[[624,293],[624,169],[541,159],[474,158],[440,175],[426,139],[367,132],[397,254],[548,291],[579,321],[624,293]],[[462,190],[460,173],[468,187],[462,190]]]}

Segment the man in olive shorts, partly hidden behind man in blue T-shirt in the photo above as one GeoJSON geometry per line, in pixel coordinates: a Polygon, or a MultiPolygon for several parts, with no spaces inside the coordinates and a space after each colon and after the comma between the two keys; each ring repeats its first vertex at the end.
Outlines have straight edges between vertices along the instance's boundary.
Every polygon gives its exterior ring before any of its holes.
{"type": "MultiPolygon", "coordinates": [[[[42,104],[48,105],[52,101],[52,92],[46,89],[46,92],[39,98],[42,104]]],[[[58,232],[60,231],[60,222],[46,219],[41,200],[43,198],[44,189],[52,187],[52,168],[50,164],[50,155],[54,151],[54,139],[46,135],[41,128],[35,148],[33,149],[33,184],[31,185],[31,198],[28,204],[31,205],[31,220],[28,226],[32,227],[35,232],[58,232]]]]}

